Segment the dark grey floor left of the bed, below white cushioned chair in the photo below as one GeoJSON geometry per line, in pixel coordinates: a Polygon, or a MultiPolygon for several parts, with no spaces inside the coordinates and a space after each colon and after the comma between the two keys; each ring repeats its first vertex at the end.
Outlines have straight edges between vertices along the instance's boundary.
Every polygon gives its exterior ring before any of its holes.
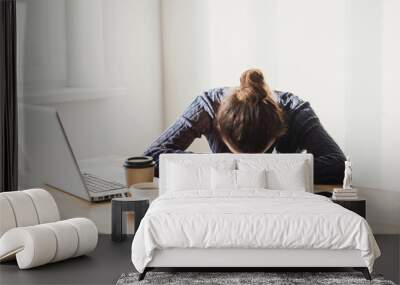
{"type": "Polygon", "coordinates": [[[0,284],[115,284],[122,273],[134,270],[130,251],[131,239],[117,243],[100,235],[88,256],[29,270],[18,270],[16,262],[0,264],[0,284]]]}

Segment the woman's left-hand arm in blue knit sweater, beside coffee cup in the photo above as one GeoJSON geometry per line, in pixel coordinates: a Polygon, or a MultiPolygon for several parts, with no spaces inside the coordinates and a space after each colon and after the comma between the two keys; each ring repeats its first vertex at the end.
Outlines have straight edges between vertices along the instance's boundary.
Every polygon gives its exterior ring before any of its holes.
{"type": "Polygon", "coordinates": [[[162,153],[188,153],[186,149],[196,139],[210,132],[212,127],[212,112],[207,92],[196,97],[184,113],[157,138],[144,155],[153,157],[156,161],[155,176],[158,177],[159,156],[162,153]]]}

